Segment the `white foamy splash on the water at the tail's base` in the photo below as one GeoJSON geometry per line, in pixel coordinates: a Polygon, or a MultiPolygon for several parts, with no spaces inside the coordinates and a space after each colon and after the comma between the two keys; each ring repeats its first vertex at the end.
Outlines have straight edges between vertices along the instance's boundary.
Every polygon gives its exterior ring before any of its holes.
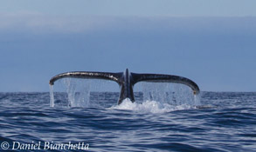
{"type": "Polygon", "coordinates": [[[182,109],[195,109],[195,106],[187,104],[175,106],[170,105],[169,103],[162,103],[149,100],[139,103],[131,102],[128,98],[126,98],[125,100],[123,100],[123,102],[121,102],[120,105],[112,106],[110,109],[128,109],[142,113],[166,113],[182,109]]]}

